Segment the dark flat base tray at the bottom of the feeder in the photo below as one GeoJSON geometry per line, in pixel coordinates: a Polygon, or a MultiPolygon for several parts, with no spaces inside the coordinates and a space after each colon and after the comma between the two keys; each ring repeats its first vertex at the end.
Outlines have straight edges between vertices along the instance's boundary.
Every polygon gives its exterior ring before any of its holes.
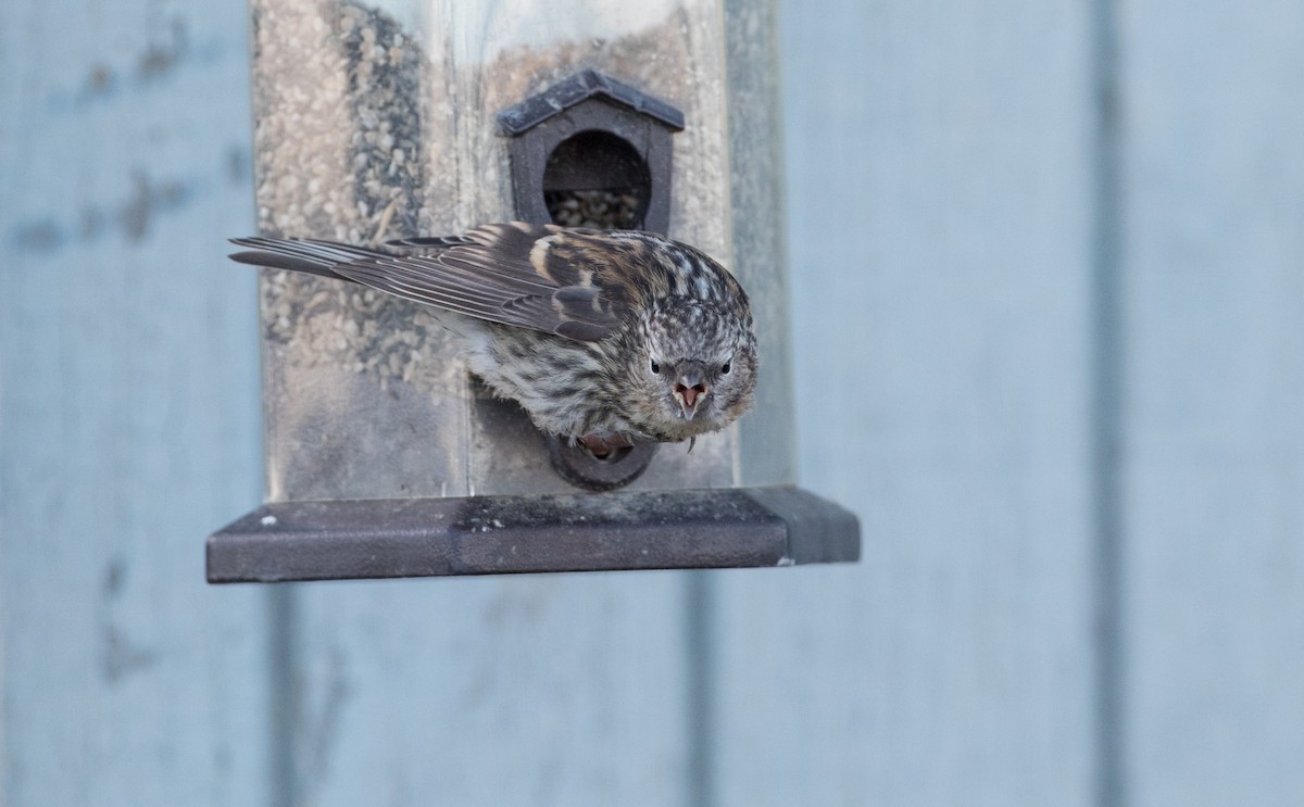
{"type": "Polygon", "coordinates": [[[854,562],[861,527],[799,488],[274,502],[207,541],[210,583],[854,562]]]}

